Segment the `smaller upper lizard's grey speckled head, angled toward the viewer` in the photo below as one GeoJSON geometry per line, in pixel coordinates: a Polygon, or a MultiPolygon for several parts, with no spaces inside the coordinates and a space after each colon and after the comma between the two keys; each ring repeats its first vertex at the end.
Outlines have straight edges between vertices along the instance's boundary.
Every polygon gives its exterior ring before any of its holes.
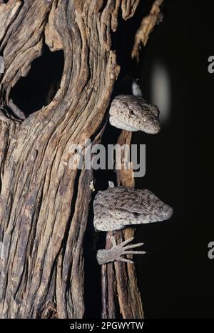
{"type": "Polygon", "coordinates": [[[118,95],[109,110],[110,124],[127,131],[144,131],[158,134],[161,129],[159,109],[141,96],[118,95]]]}

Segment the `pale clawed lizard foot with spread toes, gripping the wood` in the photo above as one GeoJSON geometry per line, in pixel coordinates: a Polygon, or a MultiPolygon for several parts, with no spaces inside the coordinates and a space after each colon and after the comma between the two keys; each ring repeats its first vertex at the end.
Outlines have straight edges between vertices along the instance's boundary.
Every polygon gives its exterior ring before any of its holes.
{"type": "Polygon", "coordinates": [[[122,242],[121,244],[116,244],[116,239],[114,237],[111,237],[111,242],[113,244],[113,247],[111,249],[101,249],[98,250],[96,254],[96,259],[98,261],[98,264],[107,264],[107,262],[114,262],[116,260],[120,262],[131,262],[133,264],[133,261],[131,259],[126,259],[121,256],[125,254],[145,254],[145,251],[129,251],[129,249],[133,249],[134,247],[141,247],[143,243],[138,244],[131,244],[127,245],[128,243],[133,241],[133,237],[127,239],[125,242],[122,242]]]}

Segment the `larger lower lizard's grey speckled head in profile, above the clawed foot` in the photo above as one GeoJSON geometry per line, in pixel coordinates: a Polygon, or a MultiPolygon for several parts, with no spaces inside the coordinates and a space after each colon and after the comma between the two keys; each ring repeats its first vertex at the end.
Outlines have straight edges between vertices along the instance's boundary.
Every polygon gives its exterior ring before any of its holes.
{"type": "Polygon", "coordinates": [[[161,222],[173,215],[173,208],[153,192],[130,187],[108,188],[98,192],[93,207],[96,229],[105,231],[123,229],[132,224],[161,222]]]}

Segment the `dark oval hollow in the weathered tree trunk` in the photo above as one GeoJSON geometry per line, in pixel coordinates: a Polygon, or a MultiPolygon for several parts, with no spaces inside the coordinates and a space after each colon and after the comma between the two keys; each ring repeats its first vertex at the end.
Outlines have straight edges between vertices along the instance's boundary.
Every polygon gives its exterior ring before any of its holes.
{"type": "Polygon", "coordinates": [[[54,99],[61,84],[63,66],[63,51],[51,52],[45,45],[42,56],[32,62],[29,74],[11,89],[13,103],[26,117],[54,99]]]}

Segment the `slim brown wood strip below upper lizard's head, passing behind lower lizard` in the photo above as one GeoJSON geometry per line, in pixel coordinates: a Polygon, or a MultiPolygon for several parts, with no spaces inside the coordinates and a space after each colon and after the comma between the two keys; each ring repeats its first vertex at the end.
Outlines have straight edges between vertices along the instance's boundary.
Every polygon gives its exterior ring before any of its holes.
{"type": "MultiPolygon", "coordinates": [[[[121,131],[118,138],[118,144],[131,145],[132,133],[121,131]]],[[[123,159],[123,156],[121,156],[123,159]]],[[[118,186],[134,187],[133,169],[117,170],[118,186]]],[[[134,228],[126,228],[123,231],[108,232],[106,237],[106,249],[112,247],[111,236],[116,238],[117,243],[123,242],[124,239],[133,237],[134,228]]],[[[116,302],[118,302],[119,310],[123,318],[143,318],[143,306],[141,302],[141,294],[137,287],[136,269],[133,264],[125,262],[114,262],[113,264],[105,264],[102,267],[103,287],[108,285],[108,291],[104,294],[111,294],[111,299],[103,299],[104,309],[103,318],[116,317],[116,302]],[[113,281],[116,283],[113,284],[113,281]],[[118,294],[118,301],[112,295],[118,294]]],[[[103,296],[104,296],[103,294],[103,296]]]]}

